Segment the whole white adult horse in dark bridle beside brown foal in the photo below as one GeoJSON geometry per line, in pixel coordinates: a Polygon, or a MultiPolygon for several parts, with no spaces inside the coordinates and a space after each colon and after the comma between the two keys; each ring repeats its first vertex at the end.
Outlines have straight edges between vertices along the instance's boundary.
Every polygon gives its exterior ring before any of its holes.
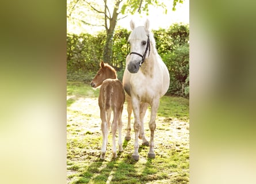
{"type": "MultiPolygon", "coordinates": [[[[123,76],[124,89],[131,96],[131,103],[135,122],[133,128],[135,131],[135,144],[132,158],[139,160],[138,138],[143,140],[143,144],[148,145],[144,136],[143,119],[148,108],[151,106],[151,116],[149,122],[150,151],[148,158],[155,158],[154,153],[154,132],[156,128],[155,118],[159,106],[159,99],[165,95],[169,88],[170,76],[165,63],[155,48],[155,39],[148,30],[149,21],[144,26],[135,28],[133,21],[130,22],[133,30],[129,36],[131,53],[126,57],[126,67],[123,76]],[[152,48],[152,49],[151,49],[152,48]]],[[[127,137],[129,136],[129,124],[127,128],[127,137]]],[[[127,137],[125,137],[127,139],[127,137]]],[[[129,140],[129,137],[128,139],[129,140]]]]}

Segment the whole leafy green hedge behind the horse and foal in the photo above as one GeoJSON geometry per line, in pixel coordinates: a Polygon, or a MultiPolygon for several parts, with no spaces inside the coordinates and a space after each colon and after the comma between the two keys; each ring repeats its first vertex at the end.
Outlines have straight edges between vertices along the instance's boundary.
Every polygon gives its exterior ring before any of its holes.
{"type": "MultiPolygon", "coordinates": [[[[168,93],[189,97],[189,26],[173,24],[169,29],[152,30],[156,48],[170,73],[168,93]]],[[[129,53],[127,29],[117,29],[113,37],[112,63],[122,81],[125,58],[129,53]]],[[[67,79],[89,83],[98,71],[102,60],[106,36],[103,32],[90,34],[67,34],[67,79]]]]}

